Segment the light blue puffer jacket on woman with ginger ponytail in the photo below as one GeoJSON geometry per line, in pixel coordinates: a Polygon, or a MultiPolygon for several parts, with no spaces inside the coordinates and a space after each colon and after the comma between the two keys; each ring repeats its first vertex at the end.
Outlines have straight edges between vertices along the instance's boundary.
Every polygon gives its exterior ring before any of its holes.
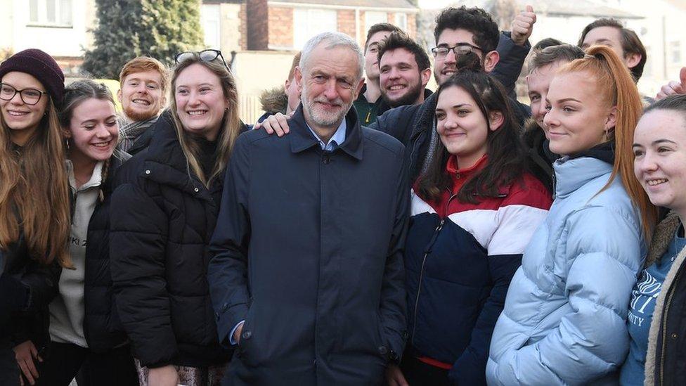
{"type": "Polygon", "coordinates": [[[640,214],[591,157],[553,165],[556,198],[524,250],[493,331],[489,385],[616,383],[626,315],[645,259],[640,214]]]}

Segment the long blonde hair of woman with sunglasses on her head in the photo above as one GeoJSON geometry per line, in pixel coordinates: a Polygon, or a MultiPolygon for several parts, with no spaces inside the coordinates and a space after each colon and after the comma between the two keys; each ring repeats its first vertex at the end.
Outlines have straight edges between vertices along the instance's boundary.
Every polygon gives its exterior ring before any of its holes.
{"type": "Polygon", "coordinates": [[[179,143],[181,143],[183,155],[186,155],[188,167],[198,176],[198,179],[202,181],[202,184],[209,187],[209,185],[212,184],[212,181],[226,169],[228,158],[231,155],[231,150],[233,150],[233,144],[240,134],[241,124],[240,118],[238,117],[238,92],[235,79],[233,79],[233,75],[228,68],[226,68],[224,63],[221,63],[219,58],[207,62],[205,60],[200,60],[198,54],[195,54],[192,58],[183,60],[183,62],[174,67],[174,73],[171,75],[170,94],[169,101],[171,101],[171,107],[169,110],[171,110],[171,117],[174,118],[174,127],[177,136],[179,136],[179,143]],[[188,138],[188,134],[183,130],[183,124],[181,124],[181,120],[179,120],[179,114],[176,113],[176,98],[174,98],[176,79],[183,70],[194,64],[202,65],[219,77],[219,83],[224,92],[224,97],[228,99],[228,110],[224,112],[223,125],[221,129],[219,129],[219,137],[217,138],[217,153],[219,153],[219,155],[216,157],[214,168],[209,176],[205,176],[205,172],[202,172],[202,167],[200,167],[200,162],[198,161],[198,152],[200,150],[198,149],[198,146],[188,138]]]}

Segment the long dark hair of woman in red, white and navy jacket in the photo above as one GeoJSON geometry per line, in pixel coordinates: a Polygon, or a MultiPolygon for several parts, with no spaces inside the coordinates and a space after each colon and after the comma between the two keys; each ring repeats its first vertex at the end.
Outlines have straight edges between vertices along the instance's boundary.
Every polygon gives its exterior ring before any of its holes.
{"type": "MultiPolygon", "coordinates": [[[[517,181],[527,167],[521,139],[519,124],[514,119],[514,112],[507,99],[503,85],[491,75],[481,70],[481,61],[476,53],[468,53],[458,58],[458,72],[449,77],[436,91],[437,98],[451,87],[459,87],[470,94],[481,114],[488,122],[490,112],[503,114],[503,125],[495,130],[488,130],[486,144],[488,162],[481,172],[467,181],[458,192],[460,202],[477,203],[479,198],[499,197],[500,187],[517,181]]],[[[437,141],[434,157],[429,167],[418,181],[418,195],[429,200],[438,200],[446,187],[451,186],[451,176],[446,174],[446,165],[451,156],[446,146],[437,141]]]]}

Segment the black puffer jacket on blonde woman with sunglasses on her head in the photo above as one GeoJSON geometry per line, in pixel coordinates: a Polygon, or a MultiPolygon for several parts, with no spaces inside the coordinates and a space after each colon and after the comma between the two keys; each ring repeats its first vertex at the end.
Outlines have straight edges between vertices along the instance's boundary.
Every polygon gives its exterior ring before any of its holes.
{"type": "Polygon", "coordinates": [[[207,288],[207,244],[222,177],[207,189],[188,170],[164,114],[150,146],[119,169],[110,210],[110,258],[119,318],[143,366],[221,364],[207,288]]]}

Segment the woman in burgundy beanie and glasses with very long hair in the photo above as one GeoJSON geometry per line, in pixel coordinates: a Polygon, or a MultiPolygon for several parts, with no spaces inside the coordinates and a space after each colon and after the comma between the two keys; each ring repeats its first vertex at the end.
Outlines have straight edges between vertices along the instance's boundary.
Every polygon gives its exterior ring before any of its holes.
{"type": "Polygon", "coordinates": [[[43,51],[0,64],[0,385],[39,376],[48,304],[71,267],[63,95],[64,74],[43,51]]]}

